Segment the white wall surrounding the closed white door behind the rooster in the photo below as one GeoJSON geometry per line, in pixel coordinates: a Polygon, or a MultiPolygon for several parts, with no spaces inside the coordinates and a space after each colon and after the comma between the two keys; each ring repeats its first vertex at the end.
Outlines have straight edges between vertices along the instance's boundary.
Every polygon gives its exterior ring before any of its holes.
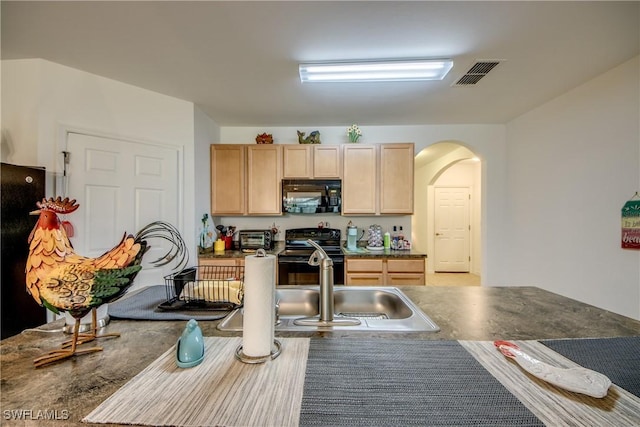
{"type": "MultiPolygon", "coordinates": [[[[2,61],[2,161],[44,166],[51,183],[62,173],[64,129],[182,147],[178,227],[194,230],[192,103],[41,59],[2,61]]],[[[195,249],[194,233],[184,234],[195,249]]]]}

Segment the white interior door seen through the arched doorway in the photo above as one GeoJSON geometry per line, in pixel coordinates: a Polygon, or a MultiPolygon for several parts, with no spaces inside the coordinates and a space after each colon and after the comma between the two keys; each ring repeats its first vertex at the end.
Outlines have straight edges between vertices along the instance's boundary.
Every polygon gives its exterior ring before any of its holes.
{"type": "Polygon", "coordinates": [[[435,187],[434,271],[469,272],[469,187],[435,187]]]}

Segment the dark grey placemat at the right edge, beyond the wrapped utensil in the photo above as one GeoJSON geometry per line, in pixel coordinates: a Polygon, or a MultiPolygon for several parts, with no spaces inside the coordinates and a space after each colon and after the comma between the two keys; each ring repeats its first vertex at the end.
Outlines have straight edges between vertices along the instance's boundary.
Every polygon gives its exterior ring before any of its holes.
{"type": "Polygon", "coordinates": [[[578,365],[605,374],[614,384],[640,397],[640,336],[541,342],[578,365]]]}

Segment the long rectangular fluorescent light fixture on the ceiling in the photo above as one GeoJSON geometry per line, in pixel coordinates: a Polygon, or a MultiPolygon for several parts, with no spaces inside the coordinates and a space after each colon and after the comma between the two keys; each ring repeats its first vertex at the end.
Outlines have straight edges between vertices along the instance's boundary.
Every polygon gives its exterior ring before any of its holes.
{"type": "Polygon", "coordinates": [[[442,80],[453,67],[450,59],[319,62],[300,64],[302,83],[402,82],[442,80]]]}

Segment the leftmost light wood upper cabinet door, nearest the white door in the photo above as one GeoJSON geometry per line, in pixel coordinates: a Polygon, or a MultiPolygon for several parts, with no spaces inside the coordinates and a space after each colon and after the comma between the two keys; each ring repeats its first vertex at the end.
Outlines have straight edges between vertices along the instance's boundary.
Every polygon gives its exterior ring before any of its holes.
{"type": "Polygon", "coordinates": [[[211,145],[211,213],[242,215],[245,211],[244,145],[211,145]]]}

